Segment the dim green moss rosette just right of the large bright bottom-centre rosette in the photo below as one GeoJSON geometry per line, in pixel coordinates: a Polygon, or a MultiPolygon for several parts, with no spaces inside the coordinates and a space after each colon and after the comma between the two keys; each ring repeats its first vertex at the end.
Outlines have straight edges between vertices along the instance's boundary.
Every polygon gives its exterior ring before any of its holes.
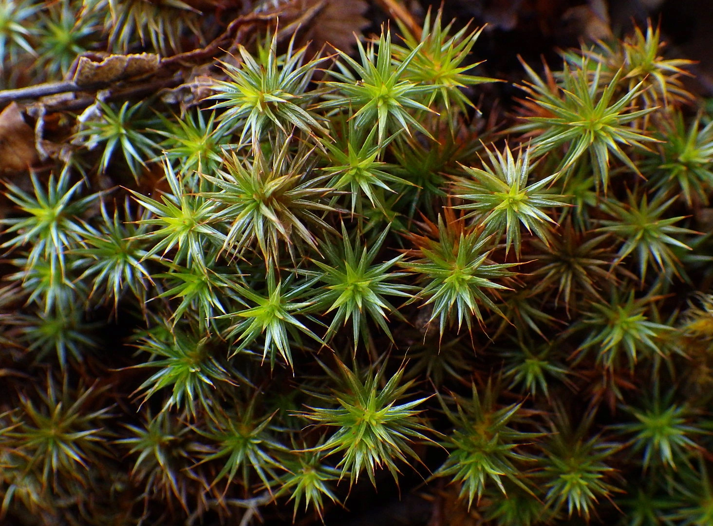
{"type": "Polygon", "coordinates": [[[474,498],[480,500],[488,483],[495,483],[506,493],[503,481],[509,480],[532,493],[518,475],[533,458],[518,451],[518,447],[530,443],[539,434],[523,433],[512,427],[514,422],[511,421],[518,419],[520,403],[498,408],[497,393],[490,383],[482,394],[474,384],[472,389],[472,398],[455,397],[457,413],[445,403],[441,404],[455,428],[443,443],[450,453],[436,476],[447,476],[454,483],[460,483],[460,495],[467,497],[468,507],[474,498]]]}

